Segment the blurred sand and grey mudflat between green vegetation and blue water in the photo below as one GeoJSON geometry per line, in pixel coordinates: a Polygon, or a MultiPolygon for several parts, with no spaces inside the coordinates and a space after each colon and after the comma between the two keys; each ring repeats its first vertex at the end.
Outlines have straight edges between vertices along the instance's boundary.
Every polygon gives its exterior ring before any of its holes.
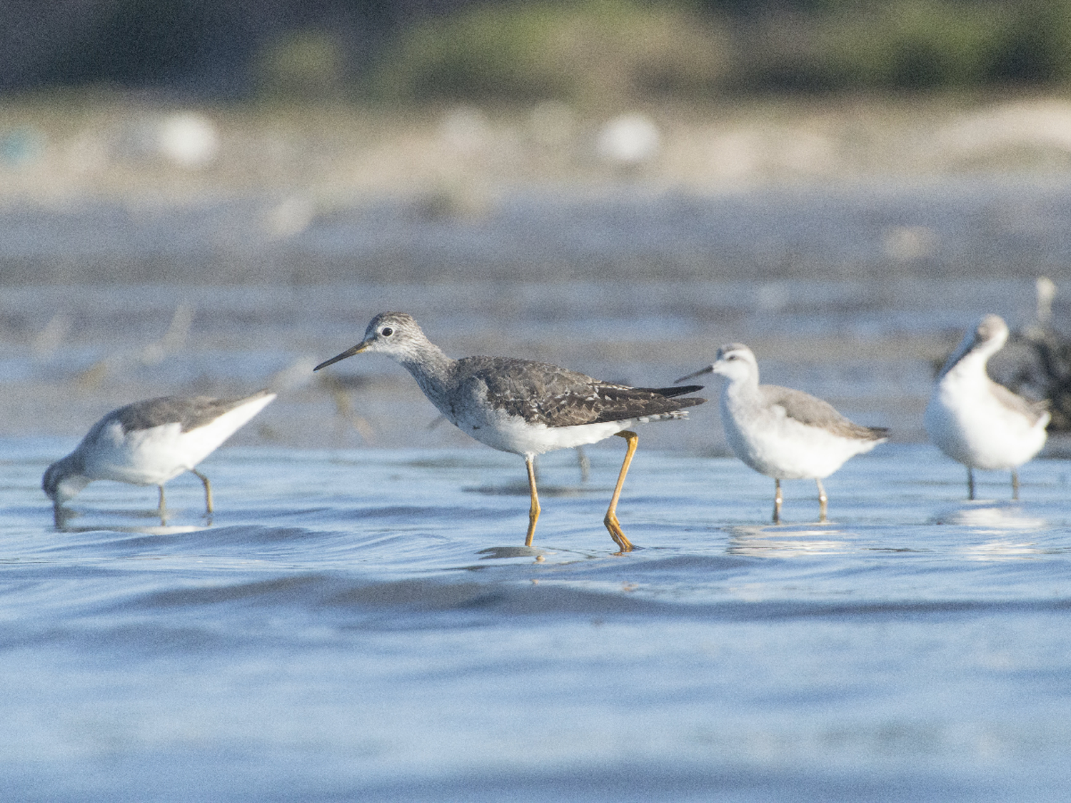
{"type": "MultiPolygon", "coordinates": [[[[75,435],[131,398],[273,384],[239,442],[465,442],[425,430],[434,411],[388,361],[306,370],[402,309],[452,355],[639,384],[742,340],[764,381],[919,440],[959,333],[986,312],[1029,325],[1035,278],[1071,275],[1062,99],[631,117],[658,136],[630,161],[603,145],[613,115],[554,105],[9,103],[0,433],[75,435]]],[[[1066,310],[1057,294],[1058,328],[1066,310]]],[[[1006,351],[998,377],[1025,359],[1006,351]]],[[[715,412],[644,437],[719,451],[715,412]]]]}

